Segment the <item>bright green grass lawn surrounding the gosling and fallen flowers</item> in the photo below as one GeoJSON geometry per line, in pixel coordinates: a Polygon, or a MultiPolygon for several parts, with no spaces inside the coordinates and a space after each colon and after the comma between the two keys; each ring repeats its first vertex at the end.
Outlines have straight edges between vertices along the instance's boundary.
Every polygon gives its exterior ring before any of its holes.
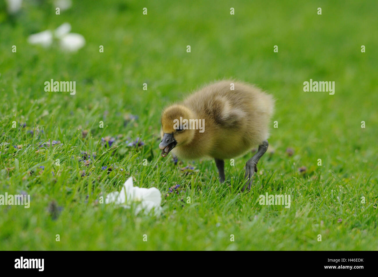
{"type": "Polygon", "coordinates": [[[15,17],[0,11],[0,194],[31,195],[29,209],[0,206],[0,249],[378,249],[376,1],[74,1],[60,15],[50,2],[28,5],[15,17]],[[86,39],[77,53],[27,43],[64,22],[86,39]],[[275,151],[260,160],[249,193],[240,189],[253,153],[226,161],[229,187],[218,183],[214,161],[175,166],[158,149],[164,106],[232,77],[276,98],[275,151]],[[76,94],[45,92],[50,79],[76,81],[76,94]],[[304,92],[310,79],[335,81],[335,94],[304,92]],[[139,118],[124,126],[128,114],[139,118]],[[105,136],[118,148],[101,155],[105,136]],[[145,145],[126,146],[137,137],[145,145]],[[61,143],[38,147],[48,139],[61,143]],[[82,151],[97,155],[89,166],[82,151]],[[188,165],[199,171],[186,175],[188,165]],[[130,175],[135,186],[161,191],[161,217],[99,203],[130,175]],[[174,184],[185,192],[165,198],[174,184]],[[266,192],[290,194],[291,207],[260,206],[266,192]]]}

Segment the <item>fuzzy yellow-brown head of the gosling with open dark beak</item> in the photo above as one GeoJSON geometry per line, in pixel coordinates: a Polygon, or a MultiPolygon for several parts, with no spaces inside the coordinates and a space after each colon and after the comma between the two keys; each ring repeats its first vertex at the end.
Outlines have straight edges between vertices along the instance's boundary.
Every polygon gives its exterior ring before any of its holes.
{"type": "Polygon", "coordinates": [[[164,109],[161,115],[161,142],[159,144],[162,157],[167,156],[174,147],[188,144],[193,140],[195,130],[183,128],[181,124],[184,119],[194,119],[192,111],[188,108],[172,105],[164,109]]]}

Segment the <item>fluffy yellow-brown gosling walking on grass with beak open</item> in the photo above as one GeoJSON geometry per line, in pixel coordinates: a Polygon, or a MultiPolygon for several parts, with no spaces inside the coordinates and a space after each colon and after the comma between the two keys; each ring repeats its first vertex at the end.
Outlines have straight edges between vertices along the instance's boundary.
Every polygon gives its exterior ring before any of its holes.
{"type": "Polygon", "coordinates": [[[182,103],[164,109],[161,156],[172,151],[181,159],[214,158],[223,183],[224,159],[235,158],[259,145],[245,165],[250,190],[257,162],[268,148],[273,109],[273,97],[249,84],[224,80],[203,87],[182,103]]]}

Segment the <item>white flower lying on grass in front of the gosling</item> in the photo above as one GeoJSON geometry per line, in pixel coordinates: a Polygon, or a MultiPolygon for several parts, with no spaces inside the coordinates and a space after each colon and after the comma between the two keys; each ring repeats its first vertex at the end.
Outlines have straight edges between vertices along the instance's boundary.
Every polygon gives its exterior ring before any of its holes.
{"type": "Polygon", "coordinates": [[[111,192],[105,198],[105,204],[125,204],[122,205],[125,208],[130,208],[130,204],[133,202],[140,202],[135,209],[135,214],[138,214],[141,210],[144,210],[145,214],[148,214],[152,209],[155,215],[161,213],[161,193],[156,187],[146,189],[144,187],[134,187],[133,177],[127,179],[124,183],[121,192],[111,192]]]}

